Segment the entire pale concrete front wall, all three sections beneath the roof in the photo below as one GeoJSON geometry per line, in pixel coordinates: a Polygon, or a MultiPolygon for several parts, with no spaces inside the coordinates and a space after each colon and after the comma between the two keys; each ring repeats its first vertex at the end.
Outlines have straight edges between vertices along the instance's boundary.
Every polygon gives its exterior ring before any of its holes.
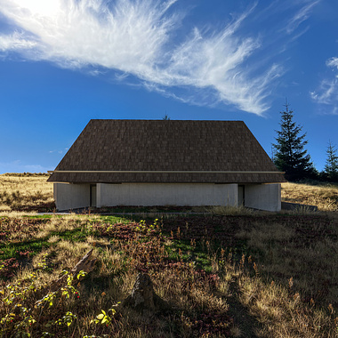
{"type": "MultiPolygon", "coordinates": [[[[90,184],[54,183],[57,210],[90,205],[90,184]]],[[[245,206],[280,211],[280,184],[245,185],[245,206]]],[[[237,205],[237,184],[122,183],[96,185],[93,205],[237,205]]]]}

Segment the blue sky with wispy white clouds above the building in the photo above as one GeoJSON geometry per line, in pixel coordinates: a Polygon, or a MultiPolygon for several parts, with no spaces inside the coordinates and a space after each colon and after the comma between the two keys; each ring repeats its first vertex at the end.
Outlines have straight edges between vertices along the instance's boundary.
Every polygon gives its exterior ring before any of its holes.
{"type": "Polygon", "coordinates": [[[92,118],[241,120],[263,149],[294,111],[338,148],[336,0],[0,0],[0,173],[53,170],[92,118]]]}

